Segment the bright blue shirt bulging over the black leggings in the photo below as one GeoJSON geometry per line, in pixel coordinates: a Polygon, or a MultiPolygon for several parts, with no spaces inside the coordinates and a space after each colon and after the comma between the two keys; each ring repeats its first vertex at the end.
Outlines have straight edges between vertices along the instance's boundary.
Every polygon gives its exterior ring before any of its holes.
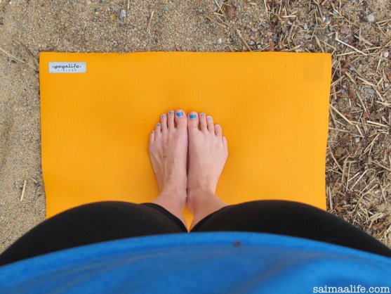
{"type": "Polygon", "coordinates": [[[204,232],[95,243],[0,267],[0,293],[7,294],[334,289],[326,287],[356,293],[390,287],[390,293],[391,258],[291,236],[204,232]]]}

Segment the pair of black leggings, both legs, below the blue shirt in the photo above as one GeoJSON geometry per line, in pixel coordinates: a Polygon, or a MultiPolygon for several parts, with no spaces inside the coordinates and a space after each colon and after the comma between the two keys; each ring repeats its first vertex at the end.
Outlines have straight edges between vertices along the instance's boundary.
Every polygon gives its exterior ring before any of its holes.
{"type": "MultiPolygon", "coordinates": [[[[391,257],[387,246],[361,229],[317,207],[292,201],[258,200],[229,205],[202,219],[194,231],[281,234],[391,257]]],[[[0,255],[0,265],[90,243],[185,232],[187,229],[178,217],[154,203],[91,203],[35,226],[0,255]]]]}

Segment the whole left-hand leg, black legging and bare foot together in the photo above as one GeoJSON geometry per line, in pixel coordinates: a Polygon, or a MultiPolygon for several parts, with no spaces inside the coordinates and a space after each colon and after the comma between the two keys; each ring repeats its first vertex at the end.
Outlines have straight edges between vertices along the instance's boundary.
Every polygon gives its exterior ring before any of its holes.
{"type": "Polygon", "coordinates": [[[187,117],[183,110],[161,115],[150,134],[148,151],[159,187],[153,203],[102,202],[67,210],[22,236],[0,255],[0,264],[117,238],[187,232],[182,214],[187,198],[187,117]]]}

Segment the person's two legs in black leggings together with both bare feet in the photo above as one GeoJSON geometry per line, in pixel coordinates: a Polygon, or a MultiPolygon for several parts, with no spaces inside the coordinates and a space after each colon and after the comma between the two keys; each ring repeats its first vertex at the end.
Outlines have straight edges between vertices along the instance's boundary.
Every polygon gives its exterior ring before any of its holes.
{"type": "Polygon", "coordinates": [[[0,265],[102,241],[188,233],[183,217],[186,204],[194,215],[190,233],[246,231],[295,236],[391,257],[387,246],[317,207],[284,200],[237,205],[220,200],[216,186],[228,145],[223,129],[213,123],[211,115],[194,111],[187,115],[182,109],[162,114],[150,133],[148,149],[159,187],[153,203],[102,201],[74,207],[19,238],[0,255],[0,265]]]}

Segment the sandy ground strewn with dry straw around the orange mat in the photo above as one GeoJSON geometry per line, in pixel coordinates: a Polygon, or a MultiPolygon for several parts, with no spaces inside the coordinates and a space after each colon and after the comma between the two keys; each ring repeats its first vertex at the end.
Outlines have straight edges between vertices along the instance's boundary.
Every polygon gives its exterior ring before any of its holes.
{"type": "Polygon", "coordinates": [[[391,245],[390,6],[387,0],[0,0],[0,252],[45,219],[40,51],[332,53],[329,211],[391,245]]]}

